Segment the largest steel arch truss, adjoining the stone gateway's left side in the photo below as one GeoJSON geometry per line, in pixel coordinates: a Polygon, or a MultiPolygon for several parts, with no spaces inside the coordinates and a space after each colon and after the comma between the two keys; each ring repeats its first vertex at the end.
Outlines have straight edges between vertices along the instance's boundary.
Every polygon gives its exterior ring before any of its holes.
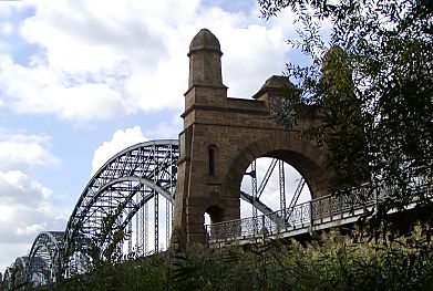
{"type": "MultiPolygon", "coordinates": [[[[64,238],[69,271],[74,272],[93,260],[110,260],[109,246],[122,245],[118,236],[131,235],[133,217],[136,217],[136,233],[143,233],[148,224],[143,206],[147,207],[150,200],[154,201],[156,229],[159,196],[165,198],[167,208],[169,205],[168,211],[173,211],[177,159],[177,141],[166,139],[128,147],[105,163],[89,181],[68,222],[64,238]]],[[[166,228],[171,228],[167,219],[166,222],[166,228]]],[[[157,250],[158,237],[154,232],[157,250]]],[[[138,240],[137,235],[135,247],[144,249],[137,246],[138,240]]],[[[130,240],[128,251],[132,249],[130,240]]]]}

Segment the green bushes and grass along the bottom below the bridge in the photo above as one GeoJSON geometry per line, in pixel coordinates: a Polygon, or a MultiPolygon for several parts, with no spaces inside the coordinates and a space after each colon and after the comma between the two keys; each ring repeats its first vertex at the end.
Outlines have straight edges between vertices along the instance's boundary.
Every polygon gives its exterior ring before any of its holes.
{"type": "Polygon", "coordinates": [[[433,290],[430,229],[377,240],[337,231],[218,249],[192,248],[101,263],[48,290],[433,290]]]}

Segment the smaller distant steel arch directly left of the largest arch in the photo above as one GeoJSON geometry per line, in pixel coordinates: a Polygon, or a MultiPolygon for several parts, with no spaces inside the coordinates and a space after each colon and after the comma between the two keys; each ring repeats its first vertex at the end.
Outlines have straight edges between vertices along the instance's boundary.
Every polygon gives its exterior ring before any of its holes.
{"type": "Polygon", "coordinates": [[[55,282],[61,273],[63,231],[43,231],[34,239],[29,254],[28,279],[33,284],[55,282]]]}

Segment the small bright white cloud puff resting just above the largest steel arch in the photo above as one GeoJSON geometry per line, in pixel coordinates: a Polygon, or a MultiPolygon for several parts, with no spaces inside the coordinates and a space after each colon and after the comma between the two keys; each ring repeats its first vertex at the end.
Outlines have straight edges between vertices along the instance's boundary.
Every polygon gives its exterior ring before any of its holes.
{"type": "Polygon", "coordinates": [[[96,148],[92,159],[92,175],[122,149],[145,141],[147,138],[143,135],[140,126],[116,131],[111,141],[102,143],[96,148]]]}

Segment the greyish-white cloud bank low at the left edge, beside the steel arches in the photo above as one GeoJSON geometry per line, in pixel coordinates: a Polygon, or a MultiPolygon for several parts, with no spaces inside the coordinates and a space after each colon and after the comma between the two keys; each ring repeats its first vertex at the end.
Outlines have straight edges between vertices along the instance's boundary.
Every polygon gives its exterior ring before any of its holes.
{"type": "Polygon", "coordinates": [[[51,189],[32,174],[34,166],[60,163],[47,148],[50,138],[12,134],[0,128],[0,249],[16,245],[14,251],[0,257],[0,270],[17,256],[28,253],[35,236],[45,229],[64,229],[68,212],[58,207],[51,189]]]}

